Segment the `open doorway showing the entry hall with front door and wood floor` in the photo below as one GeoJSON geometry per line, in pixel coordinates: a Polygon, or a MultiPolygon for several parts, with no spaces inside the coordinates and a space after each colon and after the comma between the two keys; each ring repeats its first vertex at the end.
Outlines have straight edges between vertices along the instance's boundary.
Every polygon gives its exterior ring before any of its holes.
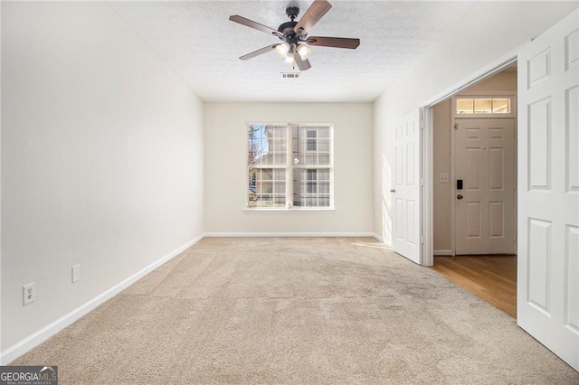
{"type": "Polygon", "coordinates": [[[515,62],[432,107],[433,269],[513,317],[516,96],[515,62]],[[493,99],[508,99],[508,113],[493,111],[493,99]]]}

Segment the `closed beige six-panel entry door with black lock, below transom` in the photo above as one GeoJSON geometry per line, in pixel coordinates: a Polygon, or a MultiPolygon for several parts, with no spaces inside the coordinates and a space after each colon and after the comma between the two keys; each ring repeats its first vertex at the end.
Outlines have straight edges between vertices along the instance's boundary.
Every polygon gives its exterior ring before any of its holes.
{"type": "Polygon", "coordinates": [[[515,253],[514,126],[512,118],[456,119],[456,254],[515,253]]]}

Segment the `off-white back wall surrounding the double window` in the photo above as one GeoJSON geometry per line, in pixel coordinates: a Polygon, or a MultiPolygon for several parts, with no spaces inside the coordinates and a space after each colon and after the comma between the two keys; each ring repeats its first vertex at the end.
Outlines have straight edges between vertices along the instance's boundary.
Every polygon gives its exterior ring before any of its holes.
{"type": "Polygon", "coordinates": [[[372,104],[206,103],[208,233],[372,233],[372,104]],[[334,124],[336,211],[248,212],[246,122],[334,124]]]}

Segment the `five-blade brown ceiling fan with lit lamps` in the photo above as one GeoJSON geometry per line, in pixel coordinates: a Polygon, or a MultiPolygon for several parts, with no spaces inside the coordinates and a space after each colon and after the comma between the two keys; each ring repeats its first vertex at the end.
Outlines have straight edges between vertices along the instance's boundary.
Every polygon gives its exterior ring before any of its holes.
{"type": "Polygon", "coordinates": [[[250,28],[270,33],[280,39],[281,42],[270,44],[257,51],[250,52],[240,57],[242,61],[252,59],[263,53],[275,51],[275,53],[284,59],[292,67],[298,67],[299,70],[309,70],[311,64],[308,57],[311,53],[311,46],[348,48],[354,50],[360,45],[360,39],[351,39],[344,37],[327,37],[327,36],[308,36],[309,30],[318,23],[327,11],[332,7],[327,0],[314,0],[312,5],[309,5],[306,13],[299,19],[299,22],[294,19],[299,14],[297,6],[289,6],[286,9],[286,14],[289,16],[290,22],[282,23],[277,30],[270,28],[261,23],[253,22],[238,14],[229,17],[229,20],[235,23],[246,25],[250,28]]]}

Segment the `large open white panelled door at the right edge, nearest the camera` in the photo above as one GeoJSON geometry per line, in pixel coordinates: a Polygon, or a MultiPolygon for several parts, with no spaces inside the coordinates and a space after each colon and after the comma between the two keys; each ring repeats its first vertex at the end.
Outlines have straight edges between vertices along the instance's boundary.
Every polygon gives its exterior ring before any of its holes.
{"type": "Polygon", "coordinates": [[[579,11],[518,56],[517,323],[579,371],[579,11]]]}

